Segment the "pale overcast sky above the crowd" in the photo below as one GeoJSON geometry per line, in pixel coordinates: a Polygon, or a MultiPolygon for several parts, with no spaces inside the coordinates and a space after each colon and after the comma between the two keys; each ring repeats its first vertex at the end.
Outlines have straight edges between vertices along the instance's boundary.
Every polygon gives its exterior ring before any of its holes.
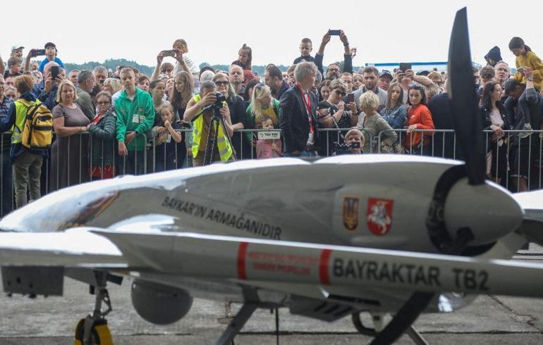
{"type": "MultiPolygon", "coordinates": [[[[541,1],[161,0],[141,4],[26,0],[25,20],[20,13],[13,14],[17,11],[3,15],[0,54],[5,61],[12,45],[22,45],[26,56],[27,49],[43,48],[51,41],[63,62],[126,58],[155,65],[159,51],[184,38],[188,56],[197,63],[231,63],[246,43],[252,47],[253,65],[289,65],[300,56],[300,39],[312,39],[314,56],[328,29],[342,29],[351,46],[358,47],[354,65],[446,61],[454,15],[468,6],[473,61],[484,63],[483,56],[497,45],[504,60],[514,65],[507,47],[513,36],[522,37],[543,57],[541,1]],[[28,11],[32,7],[37,11],[28,11]]],[[[342,54],[339,38],[332,37],[324,63],[338,61],[342,54]]]]}

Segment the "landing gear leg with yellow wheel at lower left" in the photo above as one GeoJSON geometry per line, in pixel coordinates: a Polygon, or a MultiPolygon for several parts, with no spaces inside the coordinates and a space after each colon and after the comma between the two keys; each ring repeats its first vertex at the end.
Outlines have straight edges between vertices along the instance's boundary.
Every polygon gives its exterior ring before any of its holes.
{"type": "Polygon", "coordinates": [[[94,272],[94,276],[97,285],[90,285],[90,293],[95,295],[94,311],[92,311],[92,315],[89,314],[86,318],[79,320],[77,327],[75,327],[73,345],[113,344],[111,332],[109,332],[105,318],[112,310],[109,293],[106,289],[108,275],[103,272],[94,272]],[[102,303],[106,304],[106,311],[102,311],[102,303]]]}

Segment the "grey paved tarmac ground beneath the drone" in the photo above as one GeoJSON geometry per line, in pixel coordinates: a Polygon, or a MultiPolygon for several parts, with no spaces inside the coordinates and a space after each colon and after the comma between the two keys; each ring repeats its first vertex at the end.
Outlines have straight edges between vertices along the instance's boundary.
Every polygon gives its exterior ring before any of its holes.
{"type": "MultiPolygon", "coordinates": [[[[542,287],[534,287],[541,289],[542,287]]],[[[63,297],[0,296],[0,344],[72,344],[73,330],[93,305],[88,287],[66,279],[63,297]]],[[[195,299],[174,325],[142,320],[130,303],[130,282],[109,285],[114,311],[108,317],[115,344],[214,344],[226,328],[224,303],[195,299]]],[[[233,306],[236,311],[240,306],[233,306]]],[[[429,344],[543,344],[543,299],[479,296],[455,313],[422,315],[415,323],[429,344]]],[[[276,344],[274,315],[257,311],[236,344],[276,344]]],[[[280,344],[367,344],[350,318],[320,322],[280,311],[280,344]]],[[[403,337],[398,344],[413,344],[403,337]]]]}

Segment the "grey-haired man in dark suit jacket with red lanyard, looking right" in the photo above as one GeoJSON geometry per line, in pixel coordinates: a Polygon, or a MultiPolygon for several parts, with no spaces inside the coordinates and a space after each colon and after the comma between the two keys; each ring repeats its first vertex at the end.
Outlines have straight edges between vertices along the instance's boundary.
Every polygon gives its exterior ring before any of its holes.
{"type": "Polygon", "coordinates": [[[279,100],[285,156],[317,156],[317,95],[310,91],[316,74],[315,63],[298,63],[294,70],[296,84],[279,100]]]}

